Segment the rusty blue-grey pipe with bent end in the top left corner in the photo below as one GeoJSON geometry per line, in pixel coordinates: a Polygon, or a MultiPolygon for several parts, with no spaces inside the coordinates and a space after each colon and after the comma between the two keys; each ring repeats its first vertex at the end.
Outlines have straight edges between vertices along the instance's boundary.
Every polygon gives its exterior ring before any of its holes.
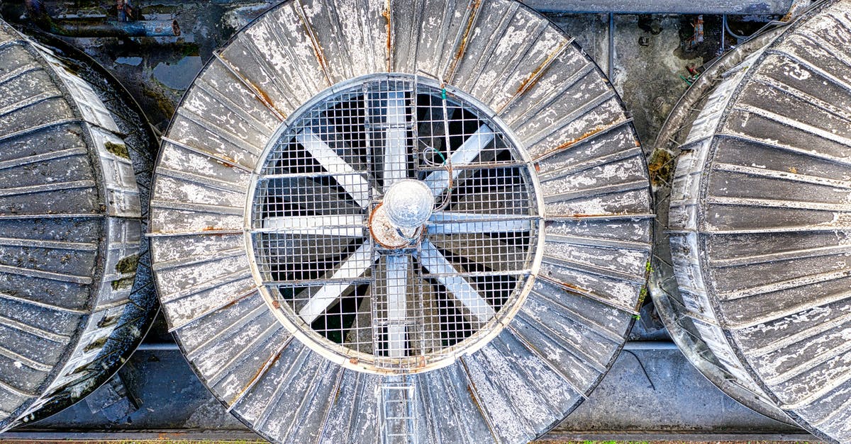
{"type": "Polygon", "coordinates": [[[26,12],[39,28],[64,37],[174,37],[180,36],[177,20],[104,20],[79,22],[55,20],[43,0],[26,0],[26,12]]]}

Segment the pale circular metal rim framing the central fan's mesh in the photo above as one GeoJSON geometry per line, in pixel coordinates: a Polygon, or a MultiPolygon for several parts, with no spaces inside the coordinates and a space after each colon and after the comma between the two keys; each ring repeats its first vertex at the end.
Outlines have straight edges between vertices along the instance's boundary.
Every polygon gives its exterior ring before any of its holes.
{"type": "Polygon", "coordinates": [[[513,130],[511,130],[511,128],[505,124],[500,117],[496,116],[495,112],[491,110],[488,105],[484,105],[471,94],[467,94],[458,88],[454,88],[451,85],[441,85],[430,77],[420,77],[401,72],[375,73],[353,77],[345,82],[340,82],[324,89],[319,94],[311,97],[310,100],[306,100],[304,104],[292,112],[291,115],[284,119],[284,121],[278,126],[277,130],[266,144],[265,149],[262,153],[260,153],[260,157],[258,157],[258,159],[257,166],[254,168],[254,171],[251,174],[251,179],[249,179],[248,182],[248,191],[246,192],[243,217],[243,240],[245,242],[246,251],[248,252],[248,263],[249,268],[251,269],[251,274],[254,277],[254,283],[257,285],[266,305],[275,315],[278,322],[281,322],[283,327],[287,328],[289,333],[292,333],[295,339],[300,340],[311,350],[342,367],[356,370],[358,372],[375,374],[416,374],[430,372],[431,370],[437,370],[439,368],[452,365],[459,356],[475,353],[476,351],[481,350],[491,340],[496,338],[502,330],[511,323],[511,320],[522,308],[528,293],[532,291],[534,282],[538,279],[538,273],[540,271],[540,265],[543,260],[544,253],[545,236],[543,233],[543,223],[545,220],[545,213],[544,197],[541,192],[538,174],[534,170],[533,161],[526,148],[517,139],[513,130]],[[363,84],[371,80],[378,80],[380,78],[410,78],[413,79],[416,84],[425,83],[431,88],[443,88],[447,91],[447,94],[459,97],[460,100],[472,105],[475,108],[474,111],[477,111],[479,116],[487,117],[491,120],[491,122],[494,122],[500,132],[504,135],[505,139],[509,142],[510,146],[508,148],[512,151],[512,155],[519,157],[519,160],[526,164],[526,167],[522,168],[521,171],[528,173],[525,179],[527,180],[529,191],[531,191],[532,194],[529,199],[530,209],[534,210],[534,212],[538,214],[537,218],[531,219],[533,222],[533,229],[534,231],[537,231],[538,236],[536,242],[530,242],[529,245],[529,255],[531,256],[531,260],[529,261],[530,272],[523,285],[518,285],[518,288],[512,292],[511,298],[506,300],[502,309],[496,312],[494,318],[489,320],[484,327],[478,329],[477,332],[472,333],[469,337],[452,346],[441,348],[438,353],[431,353],[431,356],[440,356],[437,360],[423,363],[422,356],[407,356],[401,361],[410,361],[414,363],[414,366],[405,366],[402,368],[381,367],[376,365],[376,360],[374,358],[380,356],[351,350],[344,344],[337,344],[329,339],[321,337],[309,326],[302,327],[293,322],[291,315],[283,312],[283,309],[277,302],[277,298],[270,292],[269,288],[266,287],[266,284],[263,281],[263,276],[260,274],[260,267],[257,265],[257,252],[255,251],[254,241],[251,236],[251,231],[253,230],[252,217],[254,215],[254,196],[256,195],[256,187],[259,182],[257,178],[261,174],[262,169],[266,166],[266,158],[269,157],[271,151],[275,149],[278,140],[283,138],[284,134],[286,134],[286,132],[291,128],[294,121],[304,116],[315,106],[322,104],[328,99],[328,97],[341,94],[342,92],[356,87],[359,84],[363,84]]]}

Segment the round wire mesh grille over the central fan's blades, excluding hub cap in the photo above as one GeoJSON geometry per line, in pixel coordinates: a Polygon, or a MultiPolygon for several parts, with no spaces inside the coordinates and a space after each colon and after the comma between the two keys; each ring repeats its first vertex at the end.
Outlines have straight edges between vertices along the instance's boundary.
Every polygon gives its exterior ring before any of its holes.
{"type": "Polygon", "coordinates": [[[529,165],[496,122],[436,84],[386,75],[334,89],[290,117],[257,175],[263,283],[325,350],[403,373],[452,358],[500,325],[530,279],[529,165]],[[370,223],[403,179],[428,186],[434,211],[389,248],[370,223]]]}

